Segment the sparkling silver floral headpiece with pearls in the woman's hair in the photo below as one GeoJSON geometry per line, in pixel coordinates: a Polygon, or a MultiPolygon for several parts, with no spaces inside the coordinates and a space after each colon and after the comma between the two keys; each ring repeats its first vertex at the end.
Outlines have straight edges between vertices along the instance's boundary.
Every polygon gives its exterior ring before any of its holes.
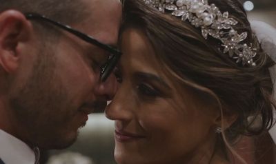
{"type": "Polygon", "coordinates": [[[247,32],[239,34],[233,28],[238,21],[228,17],[228,12],[221,12],[215,4],[208,4],[208,0],[143,0],[147,6],[157,8],[160,12],[171,12],[181,21],[189,21],[196,28],[201,28],[204,39],[208,36],[221,41],[221,50],[224,54],[235,59],[236,63],[246,66],[255,66],[253,58],[257,49],[252,43],[241,43],[248,37],[247,32]]]}

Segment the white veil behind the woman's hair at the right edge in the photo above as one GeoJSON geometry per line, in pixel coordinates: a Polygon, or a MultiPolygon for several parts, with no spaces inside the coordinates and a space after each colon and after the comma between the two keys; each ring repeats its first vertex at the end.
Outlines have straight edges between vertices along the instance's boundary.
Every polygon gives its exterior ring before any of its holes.
{"type": "MultiPolygon", "coordinates": [[[[250,23],[262,45],[262,48],[264,49],[264,52],[266,52],[268,56],[276,62],[276,29],[262,21],[250,21],[250,23]]],[[[276,99],[276,65],[271,67],[269,70],[273,81],[273,96],[276,99]]],[[[274,119],[276,119],[275,111],[274,119]]],[[[276,144],[276,125],[274,125],[269,133],[276,144]]]]}

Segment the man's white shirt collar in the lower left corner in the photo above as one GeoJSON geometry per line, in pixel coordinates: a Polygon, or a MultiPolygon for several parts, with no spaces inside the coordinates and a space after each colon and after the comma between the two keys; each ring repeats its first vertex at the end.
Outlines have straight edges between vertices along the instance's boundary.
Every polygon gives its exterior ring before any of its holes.
{"type": "Polygon", "coordinates": [[[6,164],[33,164],[34,152],[26,143],[0,129],[0,158],[6,164]]]}

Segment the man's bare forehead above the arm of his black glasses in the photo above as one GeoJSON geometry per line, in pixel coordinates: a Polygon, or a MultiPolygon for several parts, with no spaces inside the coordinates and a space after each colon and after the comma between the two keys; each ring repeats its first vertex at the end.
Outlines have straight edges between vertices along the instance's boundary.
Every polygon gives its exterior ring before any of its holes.
{"type": "Polygon", "coordinates": [[[121,25],[121,3],[118,0],[81,0],[86,6],[85,19],[74,23],[102,43],[117,46],[119,26],[121,25]]]}

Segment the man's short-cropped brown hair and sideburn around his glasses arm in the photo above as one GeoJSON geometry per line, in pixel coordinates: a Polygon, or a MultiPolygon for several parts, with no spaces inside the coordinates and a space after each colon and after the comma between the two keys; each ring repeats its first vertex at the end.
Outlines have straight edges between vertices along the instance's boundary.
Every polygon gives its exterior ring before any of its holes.
{"type": "MultiPolygon", "coordinates": [[[[22,13],[36,12],[61,23],[77,23],[85,18],[85,5],[81,1],[75,0],[0,0],[0,13],[5,10],[18,10],[22,13]]],[[[50,43],[58,41],[60,30],[43,21],[33,21],[37,34],[43,37],[41,41],[50,43]],[[47,29],[47,30],[46,30],[47,29]]]]}

